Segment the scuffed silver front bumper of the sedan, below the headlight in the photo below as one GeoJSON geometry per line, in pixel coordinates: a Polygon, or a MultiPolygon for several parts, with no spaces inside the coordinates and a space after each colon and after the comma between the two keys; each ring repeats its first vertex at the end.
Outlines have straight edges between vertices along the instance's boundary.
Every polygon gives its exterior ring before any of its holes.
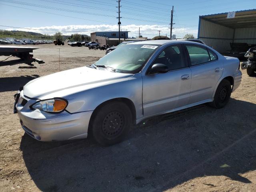
{"type": "Polygon", "coordinates": [[[40,141],[61,141],[87,138],[88,125],[92,111],[70,114],[66,111],[59,114],[31,110],[29,106],[35,100],[24,96],[20,92],[20,99],[16,104],[20,123],[24,131],[40,141]],[[22,101],[28,100],[24,106],[22,101]]]}

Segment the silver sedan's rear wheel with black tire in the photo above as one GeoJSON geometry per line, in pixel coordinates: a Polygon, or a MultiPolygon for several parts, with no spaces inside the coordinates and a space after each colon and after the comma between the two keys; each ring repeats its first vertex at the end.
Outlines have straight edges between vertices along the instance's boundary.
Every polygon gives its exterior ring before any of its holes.
{"type": "Polygon", "coordinates": [[[229,99],[230,99],[230,95],[231,95],[231,84],[228,80],[224,79],[220,82],[215,95],[214,95],[214,101],[210,102],[210,106],[220,109],[222,107],[224,107],[229,99]]]}

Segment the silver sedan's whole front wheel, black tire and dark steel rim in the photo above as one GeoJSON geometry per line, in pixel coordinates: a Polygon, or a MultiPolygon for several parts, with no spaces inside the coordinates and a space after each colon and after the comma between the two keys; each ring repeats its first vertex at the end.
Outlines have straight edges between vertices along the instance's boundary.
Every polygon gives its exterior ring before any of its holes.
{"type": "Polygon", "coordinates": [[[96,111],[90,133],[99,144],[109,146],[121,142],[131,124],[130,108],[122,102],[111,102],[96,111]]]}

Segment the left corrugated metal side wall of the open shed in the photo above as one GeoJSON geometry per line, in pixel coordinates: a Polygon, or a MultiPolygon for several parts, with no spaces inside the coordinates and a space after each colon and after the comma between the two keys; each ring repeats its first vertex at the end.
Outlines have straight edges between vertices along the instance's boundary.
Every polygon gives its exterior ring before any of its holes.
{"type": "Polygon", "coordinates": [[[214,48],[218,52],[230,50],[230,42],[233,39],[234,30],[221,26],[201,18],[199,38],[206,45],[214,48]]]}

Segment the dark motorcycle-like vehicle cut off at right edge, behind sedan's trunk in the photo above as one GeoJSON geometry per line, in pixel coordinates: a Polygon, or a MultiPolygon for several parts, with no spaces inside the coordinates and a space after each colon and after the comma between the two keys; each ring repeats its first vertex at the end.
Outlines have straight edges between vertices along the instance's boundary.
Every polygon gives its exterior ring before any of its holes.
{"type": "Polygon", "coordinates": [[[246,69],[249,76],[256,76],[256,47],[250,48],[244,57],[248,60],[242,63],[241,68],[246,69]]]}

